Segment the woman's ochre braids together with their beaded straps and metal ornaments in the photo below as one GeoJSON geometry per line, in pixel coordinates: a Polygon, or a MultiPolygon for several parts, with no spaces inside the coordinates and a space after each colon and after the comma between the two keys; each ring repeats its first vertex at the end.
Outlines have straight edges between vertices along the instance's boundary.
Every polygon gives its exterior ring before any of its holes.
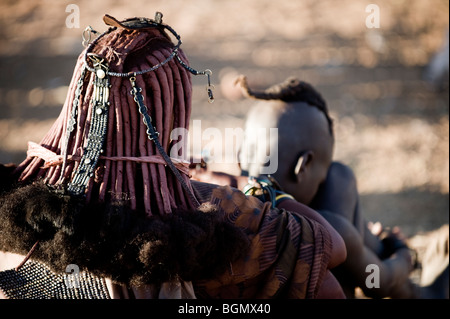
{"type": "Polygon", "coordinates": [[[189,66],[180,36],[159,12],[103,20],[110,27],[92,42],[96,32],[83,32],[87,47],[63,109],[41,142],[29,143],[20,180],[42,178],[87,201],[127,201],[147,215],[198,206],[185,154],[168,154],[172,130],[189,126],[190,74],[207,76],[212,101],[211,71],[189,66]]]}

